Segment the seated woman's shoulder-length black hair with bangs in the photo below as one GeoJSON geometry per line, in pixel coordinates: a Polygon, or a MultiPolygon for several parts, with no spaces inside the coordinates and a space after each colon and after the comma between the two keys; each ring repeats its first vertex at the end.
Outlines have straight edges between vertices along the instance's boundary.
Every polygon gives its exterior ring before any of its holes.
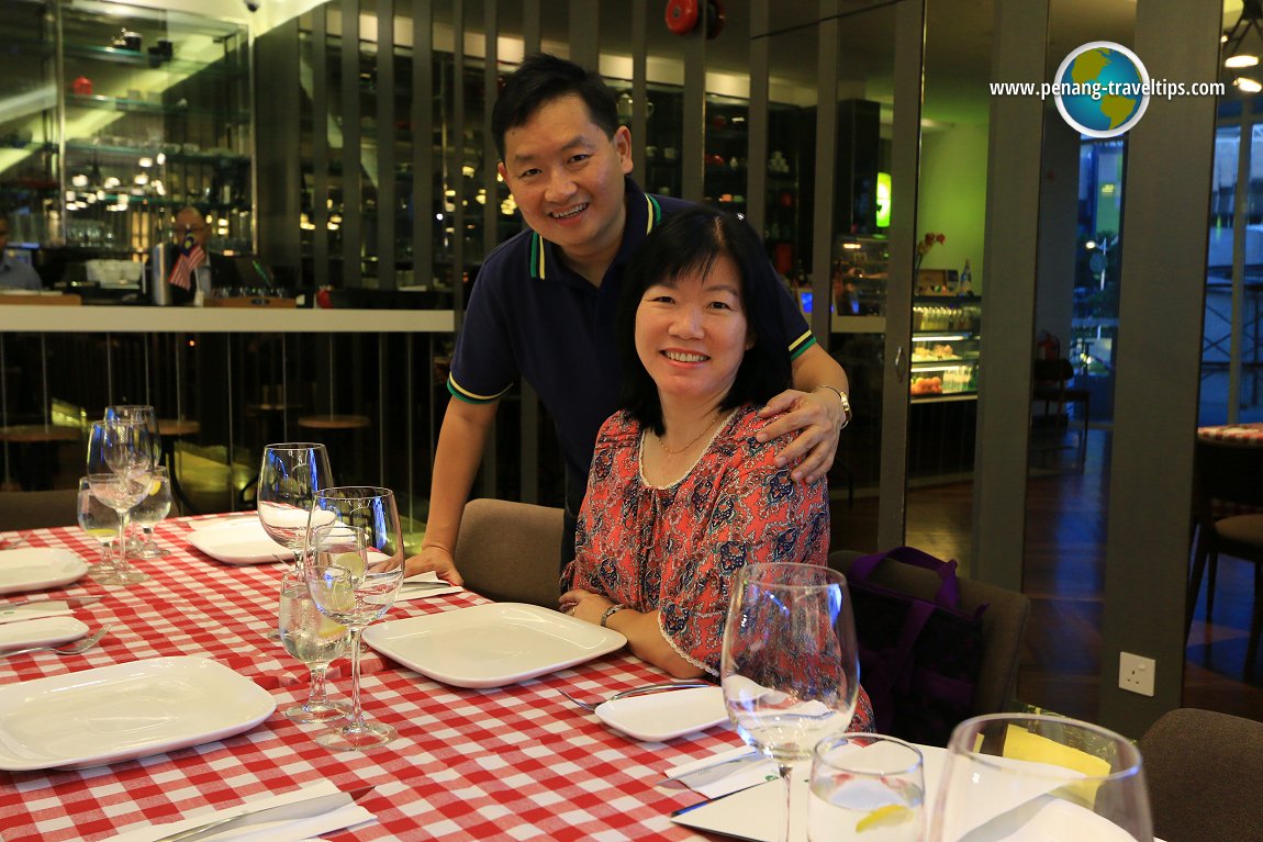
{"type": "Polygon", "coordinates": [[[659,436],[664,430],[658,386],[635,350],[637,309],[653,284],[705,275],[720,258],[736,266],[741,309],[754,338],[720,408],[765,404],[791,384],[789,338],[779,300],[784,293],[759,237],[730,213],[703,207],[683,211],[655,227],[628,264],[615,328],[623,375],[620,405],[659,436]]]}

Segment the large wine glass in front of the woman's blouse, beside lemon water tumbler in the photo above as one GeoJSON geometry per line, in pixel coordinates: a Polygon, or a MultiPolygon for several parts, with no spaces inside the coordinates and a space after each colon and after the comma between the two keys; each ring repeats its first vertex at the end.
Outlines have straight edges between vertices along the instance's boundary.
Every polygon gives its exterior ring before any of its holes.
{"type": "Polygon", "coordinates": [[[846,578],[818,564],[748,564],[733,582],[720,664],[738,733],[777,762],[784,839],[799,813],[794,765],[846,731],[859,694],[859,648],[846,578]]]}

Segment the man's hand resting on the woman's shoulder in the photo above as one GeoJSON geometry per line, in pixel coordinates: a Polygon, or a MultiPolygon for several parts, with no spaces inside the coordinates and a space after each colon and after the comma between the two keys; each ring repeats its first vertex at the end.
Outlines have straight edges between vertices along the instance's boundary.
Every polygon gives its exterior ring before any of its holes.
{"type": "Polygon", "coordinates": [[[829,473],[837,454],[837,434],[842,425],[842,404],[837,395],[826,389],[787,389],[759,410],[759,418],[774,415],[781,417],[759,430],[757,438],[760,442],[802,430],[777,453],[777,465],[792,465],[801,458],[791,475],[796,482],[815,482],[829,473]]]}

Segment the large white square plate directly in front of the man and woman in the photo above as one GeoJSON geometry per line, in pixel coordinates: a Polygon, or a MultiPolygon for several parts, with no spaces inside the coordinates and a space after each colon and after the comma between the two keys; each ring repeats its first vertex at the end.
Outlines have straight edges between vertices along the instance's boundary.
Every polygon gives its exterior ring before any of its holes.
{"type": "Polygon", "coordinates": [[[436,682],[503,687],[599,658],[626,637],[537,605],[495,602],[390,620],[364,643],[436,682]]]}

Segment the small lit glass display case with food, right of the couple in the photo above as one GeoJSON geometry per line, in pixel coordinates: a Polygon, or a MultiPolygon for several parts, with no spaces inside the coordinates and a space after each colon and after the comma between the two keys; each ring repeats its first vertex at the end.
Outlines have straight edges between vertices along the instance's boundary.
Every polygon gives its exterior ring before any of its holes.
{"type": "Polygon", "coordinates": [[[912,305],[913,401],[975,399],[983,303],[976,297],[918,295],[912,305]]]}

